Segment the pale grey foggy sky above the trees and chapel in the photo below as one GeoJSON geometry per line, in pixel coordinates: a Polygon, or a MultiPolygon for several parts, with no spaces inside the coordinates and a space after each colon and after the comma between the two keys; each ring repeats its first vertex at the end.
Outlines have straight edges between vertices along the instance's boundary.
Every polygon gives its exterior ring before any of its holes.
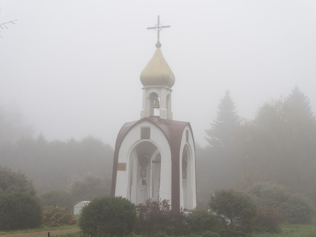
{"type": "Polygon", "coordinates": [[[139,75],[161,51],[173,71],[173,119],[191,123],[196,143],[225,90],[252,119],[264,101],[297,84],[316,110],[315,1],[3,0],[0,106],[19,111],[48,140],[87,135],[115,144],[138,120],[139,75]]]}

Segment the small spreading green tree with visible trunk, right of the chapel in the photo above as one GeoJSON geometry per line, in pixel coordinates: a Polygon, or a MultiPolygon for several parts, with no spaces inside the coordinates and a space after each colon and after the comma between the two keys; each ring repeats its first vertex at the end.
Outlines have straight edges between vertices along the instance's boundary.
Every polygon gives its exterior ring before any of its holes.
{"type": "Polygon", "coordinates": [[[209,205],[225,226],[226,231],[231,234],[246,236],[245,232],[250,231],[257,215],[257,208],[252,197],[233,188],[216,190],[214,196],[210,197],[209,205]]]}

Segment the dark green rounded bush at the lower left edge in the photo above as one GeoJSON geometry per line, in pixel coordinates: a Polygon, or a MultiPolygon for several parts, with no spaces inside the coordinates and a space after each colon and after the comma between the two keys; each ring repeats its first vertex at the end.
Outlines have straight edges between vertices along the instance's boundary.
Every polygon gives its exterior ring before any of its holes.
{"type": "Polygon", "coordinates": [[[42,221],[42,208],[30,194],[16,192],[0,195],[1,230],[37,228],[42,221]]]}

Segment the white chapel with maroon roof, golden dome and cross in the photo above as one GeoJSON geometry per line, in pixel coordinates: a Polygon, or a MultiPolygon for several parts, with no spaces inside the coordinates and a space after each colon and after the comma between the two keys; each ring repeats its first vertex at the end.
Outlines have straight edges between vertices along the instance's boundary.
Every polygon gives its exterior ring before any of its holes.
{"type": "Polygon", "coordinates": [[[173,120],[175,77],[161,52],[159,16],[155,28],[156,50],[140,74],[140,119],[125,123],[116,139],[111,195],[136,205],[167,199],[172,209],[190,210],[197,202],[194,138],[189,122],[173,120]]]}

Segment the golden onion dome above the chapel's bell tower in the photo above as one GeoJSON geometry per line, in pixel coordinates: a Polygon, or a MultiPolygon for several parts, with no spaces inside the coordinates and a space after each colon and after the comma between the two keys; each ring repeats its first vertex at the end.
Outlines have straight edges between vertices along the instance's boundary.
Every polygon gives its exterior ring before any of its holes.
{"type": "Polygon", "coordinates": [[[144,87],[172,87],[175,77],[161,52],[161,43],[156,43],[156,51],[140,74],[144,87]]]}

